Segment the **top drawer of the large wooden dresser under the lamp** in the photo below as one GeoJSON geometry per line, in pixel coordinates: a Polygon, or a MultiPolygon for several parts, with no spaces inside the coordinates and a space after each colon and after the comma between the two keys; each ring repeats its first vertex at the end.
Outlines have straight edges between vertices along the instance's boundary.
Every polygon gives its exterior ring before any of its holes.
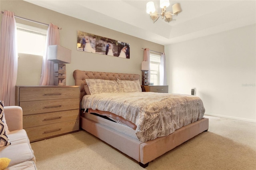
{"type": "Polygon", "coordinates": [[[79,98],[79,87],[26,87],[19,88],[19,101],[79,98]]]}

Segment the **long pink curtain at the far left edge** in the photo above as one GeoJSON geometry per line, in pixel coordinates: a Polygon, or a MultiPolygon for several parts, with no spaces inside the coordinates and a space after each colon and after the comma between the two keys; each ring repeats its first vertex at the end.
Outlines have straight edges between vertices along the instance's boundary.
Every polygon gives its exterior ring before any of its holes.
{"type": "Polygon", "coordinates": [[[4,11],[0,36],[0,100],[5,106],[15,105],[17,73],[16,21],[13,12],[4,11]]]}

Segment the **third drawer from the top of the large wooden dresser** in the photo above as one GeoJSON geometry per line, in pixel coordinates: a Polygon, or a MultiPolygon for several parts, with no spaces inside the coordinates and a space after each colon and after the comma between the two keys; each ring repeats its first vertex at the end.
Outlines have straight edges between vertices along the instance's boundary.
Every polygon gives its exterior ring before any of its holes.
{"type": "Polygon", "coordinates": [[[79,109],[23,116],[23,128],[79,119],[79,109]]]}

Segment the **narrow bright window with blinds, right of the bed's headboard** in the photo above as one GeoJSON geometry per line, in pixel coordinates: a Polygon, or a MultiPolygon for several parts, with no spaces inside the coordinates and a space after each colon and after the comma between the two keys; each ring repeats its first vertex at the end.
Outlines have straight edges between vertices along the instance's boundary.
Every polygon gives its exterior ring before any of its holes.
{"type": "Polygon", "coordinates": [[[159,85],[160,55],[150,53],[150,84],[159,85]]]}

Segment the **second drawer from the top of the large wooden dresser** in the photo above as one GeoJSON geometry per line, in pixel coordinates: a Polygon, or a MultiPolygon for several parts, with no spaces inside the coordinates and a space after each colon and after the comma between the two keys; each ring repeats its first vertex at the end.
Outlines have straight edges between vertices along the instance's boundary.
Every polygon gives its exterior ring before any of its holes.
{"type": "Polygon", "coordinates": [[[79,109],[79,99],[22,101],[23,115],[79,109]]]}

